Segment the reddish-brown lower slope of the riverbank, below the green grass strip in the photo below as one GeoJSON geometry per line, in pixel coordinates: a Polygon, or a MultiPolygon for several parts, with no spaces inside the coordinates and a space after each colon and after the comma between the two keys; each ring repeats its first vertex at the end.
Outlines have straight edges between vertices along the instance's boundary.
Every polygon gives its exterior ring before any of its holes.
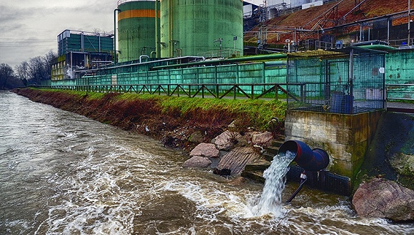
{"type": "MultiPolygon", "coordinates": [[[[214,137],[227,130],[228,125],[234,120],[237,120],[239,132],[255,128],[255,124],[243,113],[231,113],[216,108],[194,108],[185,113],[173,109],[163,110],[156,98],[121,100],[117,98],[119,93],[107,93],[101,99],[90,99],[89,95],[79,96],[64,91],[13,91],[34,102],[53,105],[123,130],[148,135],[160,140],[166,147],[179,148],[187,152],[200,142],[211,142],[214,137]]],[[[283,135],[283,122],[278,124],[273,126],[271,131],[275,135],[283,135]]]]}

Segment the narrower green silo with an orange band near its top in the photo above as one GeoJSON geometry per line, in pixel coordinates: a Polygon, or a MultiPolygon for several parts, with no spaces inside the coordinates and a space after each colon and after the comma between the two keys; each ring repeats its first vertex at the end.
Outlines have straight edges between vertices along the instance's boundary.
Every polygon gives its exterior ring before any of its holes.
{"type": "Polygon", "coordinates": [[[138,60],[141,55],[151,57],[151,52],[154,57],[156,1],[118,1],[118,9],[118,61],[138,60]]]}

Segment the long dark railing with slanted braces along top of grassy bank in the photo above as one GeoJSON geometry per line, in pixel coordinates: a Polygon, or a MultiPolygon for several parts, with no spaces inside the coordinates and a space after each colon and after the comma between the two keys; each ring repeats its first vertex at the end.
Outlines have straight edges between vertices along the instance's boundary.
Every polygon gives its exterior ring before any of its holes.
{"type": "MultiPolygon", "coordinates": [[[[286,98],[286,83],[245,83],[245,84],[124,84],[124,85],[41,85],[36,88],[78,90],[97,93],[136,93],[150,95],[186,96],[188,98],[286,98]]],[[[294,85],[290,83],[289,85],[294,85]]],[[[296,84],[303,90],[304,84],[296,84]]],[[[291,97],[297,99],[296,97],[291,97]]]]}

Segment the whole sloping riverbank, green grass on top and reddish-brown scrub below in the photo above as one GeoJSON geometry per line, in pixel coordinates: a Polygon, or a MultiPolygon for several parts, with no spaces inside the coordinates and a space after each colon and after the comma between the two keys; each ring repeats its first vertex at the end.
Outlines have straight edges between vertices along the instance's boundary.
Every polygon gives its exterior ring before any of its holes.
{"type": "Polygon", "coordinates": [[[171,147],[210,142],[234,121],[238,132],[283,134],[286,103],[277,100],[226,100],[71,90],[16,89],[39,103],[161,140],[171,147]],[[269,121],[277,117],[279,122],[269,121]]]}

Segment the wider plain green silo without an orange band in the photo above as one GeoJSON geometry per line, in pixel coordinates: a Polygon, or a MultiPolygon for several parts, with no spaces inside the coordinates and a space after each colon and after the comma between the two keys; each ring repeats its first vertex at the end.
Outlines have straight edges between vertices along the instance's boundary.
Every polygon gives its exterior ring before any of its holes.
{"type": "Polygon", "coordinates": [[[243,1],[161,0],[161,57],[243,55],[243,1]]]}

